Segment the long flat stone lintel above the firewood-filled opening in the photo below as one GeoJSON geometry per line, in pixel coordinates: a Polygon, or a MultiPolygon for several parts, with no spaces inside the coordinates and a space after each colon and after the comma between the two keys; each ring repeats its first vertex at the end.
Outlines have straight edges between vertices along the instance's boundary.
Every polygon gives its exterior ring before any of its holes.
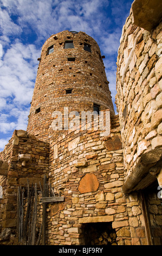
{"type": "Polygon", "coordinates": [[[83,217],[79,219],[79,223],[96,223],[96,222],[113,222],[113,215],[96,216],[96,217],[83,217]]]}

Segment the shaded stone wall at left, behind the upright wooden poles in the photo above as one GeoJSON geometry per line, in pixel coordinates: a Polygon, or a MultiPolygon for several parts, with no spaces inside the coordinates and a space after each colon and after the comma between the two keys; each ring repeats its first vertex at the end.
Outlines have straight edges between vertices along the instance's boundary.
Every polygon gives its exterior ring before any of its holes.
{"type": "Polygon", "coordinates": [[[17,188],[37,183],[43,185],[43,176],[48,176],[49,144],[38,141],[27,131],[15,130],[9,143],[1,152],[1,160],[9,164],[7,176],[1,176],[3,198],[0,199],[1,229],[16,228],[17,221],[17,188]],[[30,160],[22,165],[20,154],[30,155],[30,160]]]}

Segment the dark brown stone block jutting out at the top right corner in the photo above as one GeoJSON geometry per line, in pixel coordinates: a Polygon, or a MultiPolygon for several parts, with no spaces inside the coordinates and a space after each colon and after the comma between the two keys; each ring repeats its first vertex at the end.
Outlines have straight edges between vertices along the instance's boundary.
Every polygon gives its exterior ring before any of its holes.
{"type": "Polygon", "coordinates": [[[159,0],[134,0],[132,11],[134,24],[151,32],[161,21],[162,2],[159,0]]]}

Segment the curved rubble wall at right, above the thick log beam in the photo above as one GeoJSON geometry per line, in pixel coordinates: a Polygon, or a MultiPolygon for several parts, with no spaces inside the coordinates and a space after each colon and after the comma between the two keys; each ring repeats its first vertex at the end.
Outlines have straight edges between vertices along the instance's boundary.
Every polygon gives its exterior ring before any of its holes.
{"type": "MultiPolygon", "coordinates": [[[[122,29],[117,59],[116,104],[124,150],[125,179],[141,156],[162,146],[162,22],[151,32],[133,24],[122,29]]],[[[147,163],[146,163],[147,164],[147,163]]]]}

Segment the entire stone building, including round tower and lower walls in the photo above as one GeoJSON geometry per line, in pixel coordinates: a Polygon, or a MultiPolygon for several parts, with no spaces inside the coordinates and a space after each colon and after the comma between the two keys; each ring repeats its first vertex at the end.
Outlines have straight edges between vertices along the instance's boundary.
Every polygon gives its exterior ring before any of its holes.
{"type": "Polygon", "coordinates": [[[17,191],[27,198],[28,179],[37,184],[37,233],[46,217],[40,244],[161,245],[162,23],[152,3],[135,0],[122,29],[118,115],[93,38],[63,31],[44,43],[27,131],[15,130],[0,153],[2,233],[18,232],[17,191]]]}

